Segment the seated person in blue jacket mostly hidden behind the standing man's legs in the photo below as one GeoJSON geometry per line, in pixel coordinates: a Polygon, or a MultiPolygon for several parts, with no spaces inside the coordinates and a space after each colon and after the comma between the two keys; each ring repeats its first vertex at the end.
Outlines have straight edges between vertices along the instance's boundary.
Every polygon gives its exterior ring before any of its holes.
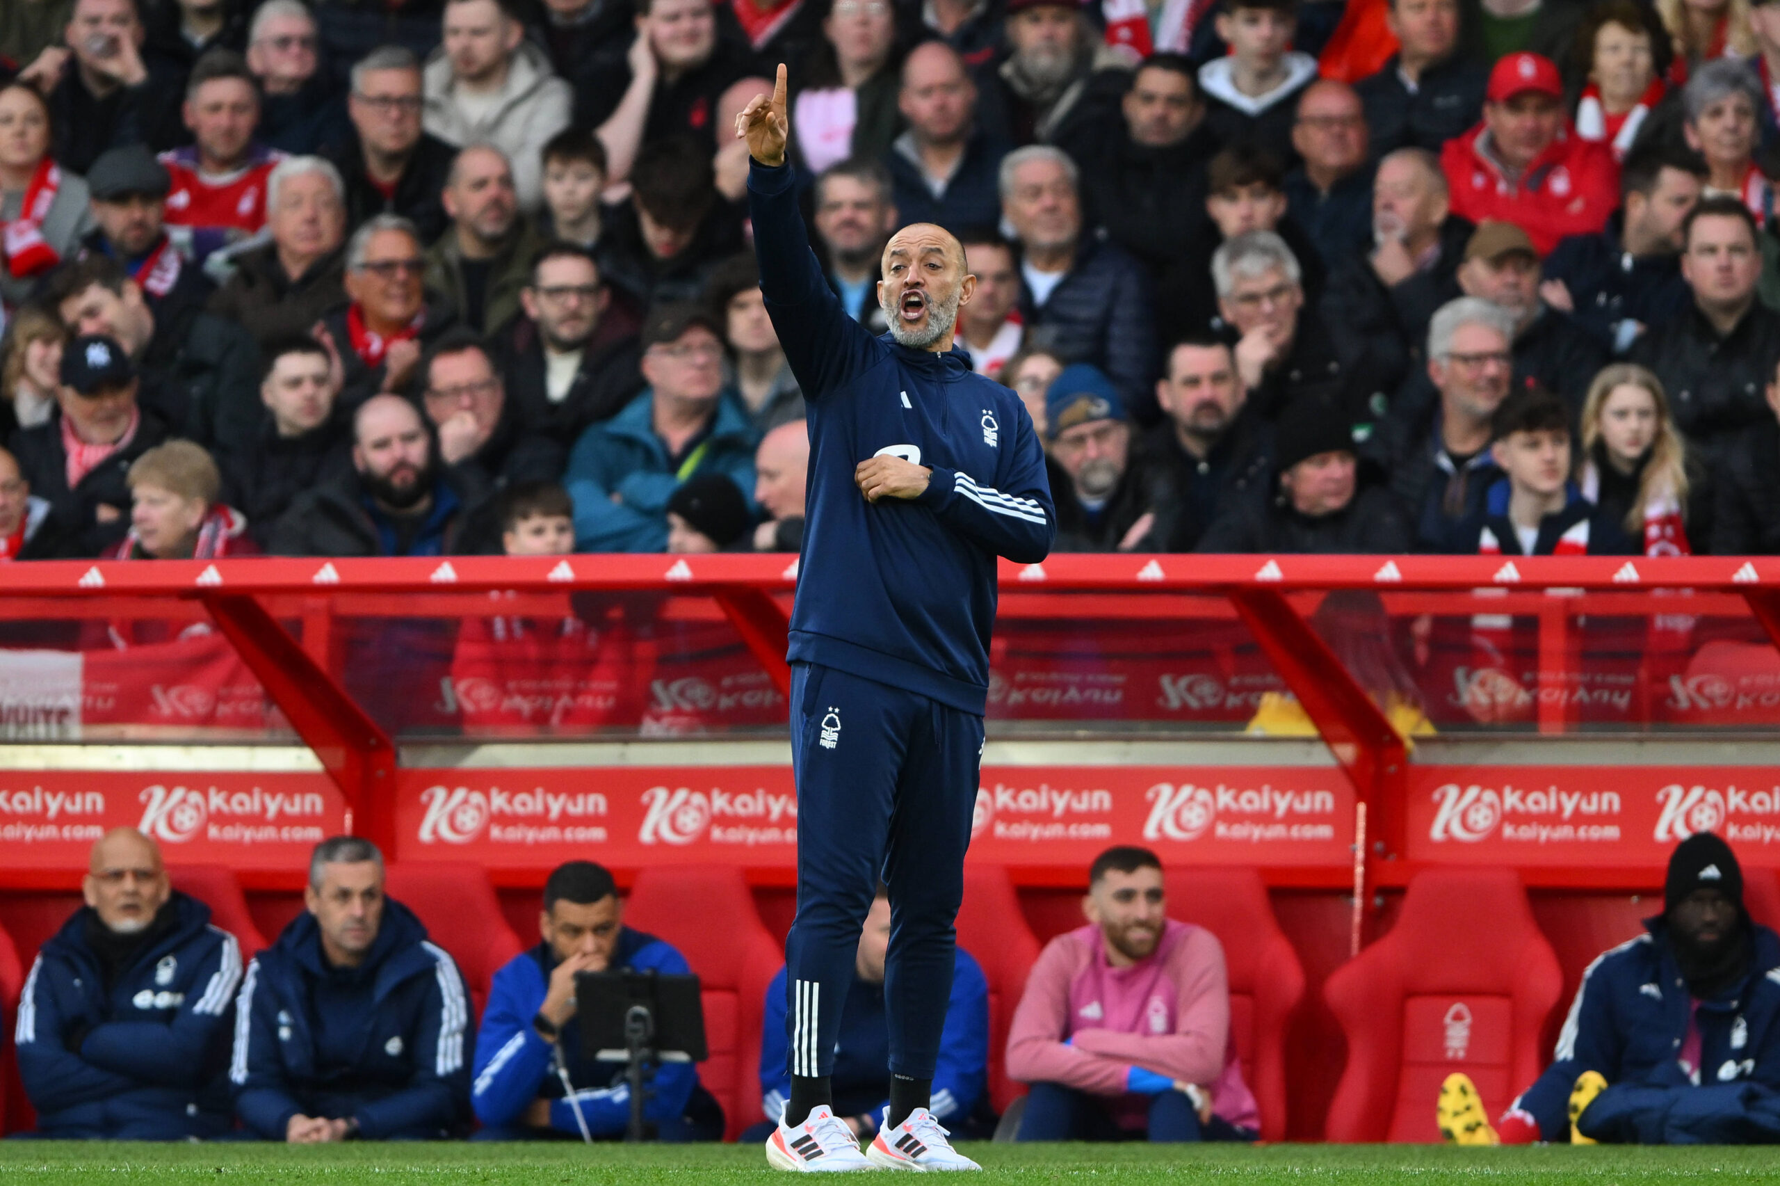
{"type": "MultiPolygon", "coordinates": [[[[890,1026],[885,1013],[885,953],[890,947],[890,890],[878,887],[860,954],[853,965],[853,990],[840,1015],[835,1049],[835,1113],[858,1136],[870,1138],[883,1127],[890,1101],[890,1026]]],[[[765,1022],[760,1033],[760,1106],[764,1124],[742,1140],[765,1140],[790,1099],[785,1033],[785,969],[767,987],[765,1022]]],[[[983,1101],[990,1067],[990,983],[983,967],[963,947],[952,965],[952,999],[945,1008],[940,1061],[933,1068],[933,1115],[943,1124],[967,1124],[983,1101]]],[[[990,1136],[981,1133],[981,1136],[990,1136]]]]}

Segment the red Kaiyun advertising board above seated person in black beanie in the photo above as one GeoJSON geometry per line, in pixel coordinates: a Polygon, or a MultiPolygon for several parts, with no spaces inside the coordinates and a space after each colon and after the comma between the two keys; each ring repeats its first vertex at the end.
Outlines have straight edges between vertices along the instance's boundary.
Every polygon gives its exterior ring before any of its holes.
{"type": "Polygon", "coordinates": [[[1716,832],[1744,864],[1780,865],[1780,778],[1766,766],[1415,766],[1408,858],[1663,867],[1716,832]]]}

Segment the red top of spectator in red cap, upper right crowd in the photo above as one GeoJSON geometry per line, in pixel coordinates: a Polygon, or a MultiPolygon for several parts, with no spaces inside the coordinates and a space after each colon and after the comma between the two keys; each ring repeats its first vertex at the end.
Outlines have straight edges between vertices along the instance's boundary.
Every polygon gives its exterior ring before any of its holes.
{"type": "Polygon", "coordinates": [[[1584,141],[1565,128],[1517,183],[1479,144],[1486,130],[1488,125],[1479,123],[1447,141],[1440,153],[1440,167],[1452,191],[1452,214],[1461,219],[1513,223],[1545,256],[1565,235],[1598,233],[1620,207],[1620,166],[1606,142],[1584,141]]]}

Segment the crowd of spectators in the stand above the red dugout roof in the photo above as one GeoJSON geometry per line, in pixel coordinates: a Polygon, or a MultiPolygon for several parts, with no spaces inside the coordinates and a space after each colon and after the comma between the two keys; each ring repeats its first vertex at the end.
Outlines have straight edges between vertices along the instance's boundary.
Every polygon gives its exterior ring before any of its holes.
{"type": "Polygon", "coordinates": [[[796,550],[778,62],[1061,550],[1780,552],[1771,0],[0,7],[0,559],[796,550]]]}

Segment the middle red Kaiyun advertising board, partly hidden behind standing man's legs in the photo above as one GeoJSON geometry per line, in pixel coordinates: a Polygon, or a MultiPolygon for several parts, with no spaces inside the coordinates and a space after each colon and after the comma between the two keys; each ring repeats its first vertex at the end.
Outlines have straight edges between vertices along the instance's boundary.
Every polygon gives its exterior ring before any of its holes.
{"type": "MultiPolygon", "coordinates": [[[[402,771],[409,860],[548,869],[737,862],[792,867],[789,766],[402,771]]],[[[1353,789],[1331,768],[988,766],[972,857],[1086,867],[1111,844],[1169,862],[1346,867],[1353,789]]]]}

